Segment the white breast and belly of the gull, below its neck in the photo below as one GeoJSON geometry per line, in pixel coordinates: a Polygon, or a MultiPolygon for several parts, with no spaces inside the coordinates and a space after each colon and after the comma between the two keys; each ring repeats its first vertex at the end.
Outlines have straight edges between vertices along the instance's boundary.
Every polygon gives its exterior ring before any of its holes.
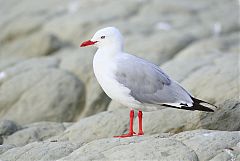
{"type": "Polygon", "coordinates": [[[93,69],[97,81],[113,100],[131,108],[139,107],[139,102],[130,96],[130,90],[116,81],[114,73],[116,73],[117,65],[115,61],[114,57],[107,57],[99,52],[95,54],[93,69]]]}

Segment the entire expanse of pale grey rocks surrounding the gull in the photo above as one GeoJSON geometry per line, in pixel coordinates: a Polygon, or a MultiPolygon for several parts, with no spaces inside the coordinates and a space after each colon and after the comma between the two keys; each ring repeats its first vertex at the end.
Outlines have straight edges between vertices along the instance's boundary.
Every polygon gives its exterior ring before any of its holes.
{"type": "Polygon", "coordinates": [[[237,1],[2,0],[0,8],[0,160],[240,160],[237,1]],[[79,48],[106,26],[216,111],[146,112],[144,136],[113,138],[127,132],[129,109],[98,85],[95,49],[79,48]]]}

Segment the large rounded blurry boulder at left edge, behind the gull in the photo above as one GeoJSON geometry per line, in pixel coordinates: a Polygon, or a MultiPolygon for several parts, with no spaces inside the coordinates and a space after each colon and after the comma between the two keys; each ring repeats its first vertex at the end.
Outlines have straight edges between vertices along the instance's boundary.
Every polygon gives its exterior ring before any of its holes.
{"type": "Polygon", "coordinates": [[[73,120],[84,105],[84,86],[74,75],[57,69],[56,63],[33,59],[5,69],[0,116],[20,124],[73,120]]]}

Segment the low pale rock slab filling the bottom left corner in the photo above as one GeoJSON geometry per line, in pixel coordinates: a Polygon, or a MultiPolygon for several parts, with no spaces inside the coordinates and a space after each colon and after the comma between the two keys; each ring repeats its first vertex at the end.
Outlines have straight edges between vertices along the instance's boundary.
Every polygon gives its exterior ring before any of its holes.
{"type": "Polygon", "coordinates": [[[23,147],[11,148],[3,153],[2,160],[46,161],[57,160],[72,153],[79,145],[70,142],[33,142],[23,147]]]}

